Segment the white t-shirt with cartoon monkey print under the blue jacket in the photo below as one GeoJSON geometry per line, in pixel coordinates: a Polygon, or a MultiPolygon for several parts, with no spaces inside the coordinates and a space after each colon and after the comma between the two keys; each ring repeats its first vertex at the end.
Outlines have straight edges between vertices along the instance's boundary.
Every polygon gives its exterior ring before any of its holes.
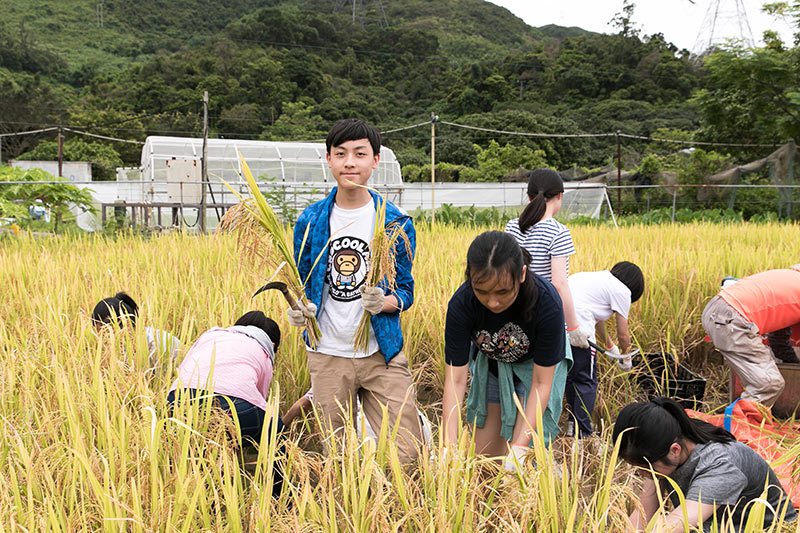
{"type": "Polygon", "coordinates": [[[370,328],[369,350],[356,352],[353,336],[361,321],[360,287],[369,270],[369,244],[375,228],[375,204],[358,209],[342,209],[334,204],[330,218],[325,285],[319,328],[322,339],[317,351],[337,357],[369,357],[378,351],[378,341],[370,328]]]}

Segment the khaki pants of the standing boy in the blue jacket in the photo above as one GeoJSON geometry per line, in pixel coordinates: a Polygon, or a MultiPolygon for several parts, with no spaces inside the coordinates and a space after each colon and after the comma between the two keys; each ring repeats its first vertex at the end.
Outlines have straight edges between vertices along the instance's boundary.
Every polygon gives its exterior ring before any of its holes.
{"type": "Polygon", "coordinates": [[[417,458],[422,430],[414,382],[403,352],[394,356],[388,366],[381,352],[361,359],[308,352],[308,371],[314,405],[321,411],[328,430],[335,433],[344,427],[346,416],[355,420],[357,394],[364,416],[376,433],[380,433],[382,405],[387,408],[390,433],[400,420],[396,441],[400,460],[410,463],[417,458]],[[350,412],[344,413],[343,409],[350,412]]]}

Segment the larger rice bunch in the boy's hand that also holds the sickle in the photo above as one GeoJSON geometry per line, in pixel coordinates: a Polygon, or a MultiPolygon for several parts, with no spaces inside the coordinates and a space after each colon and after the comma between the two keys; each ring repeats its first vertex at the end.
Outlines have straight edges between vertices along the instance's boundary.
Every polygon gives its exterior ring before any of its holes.
{"type": "MultiPolygon", "coordinates": [[[[242,165],[242,173],[250,191],[250,198],[243,198],[230,184],[220,178],[231,192],[236,195],[240,203],[225,213],[220,220],[217,231],[232,231],[236,233],[237,244],[242,255],[260,263],[268,271],[273,272],[273,279],[286,284],[294,295],[294,299],[303,302],[305,301],[305,291],[303,290],[305,281],[300,279],[300,272],[297,270],[292,250],[287,243],[286,228],[258,189],[258,184],[253,178],[253,173],[250,171],[250,167],[244,157],[242,157],[241,153],[238,153],[238,155],[242,165]]],[[[306,234],[303,236],[303,243],[298,256],[303,254],[303,247],[308,238],[310,228],[311,225],[306,228],[306,234]]],[[[317,258],[318,261],[319,258],[317,258]]],[[[316,266],[316,262],[314,266],[316,266]]],[[[316,348],[322,336],[316,318],[306,318],[306,332],[309,346],[312,349],[316,348]]]]}

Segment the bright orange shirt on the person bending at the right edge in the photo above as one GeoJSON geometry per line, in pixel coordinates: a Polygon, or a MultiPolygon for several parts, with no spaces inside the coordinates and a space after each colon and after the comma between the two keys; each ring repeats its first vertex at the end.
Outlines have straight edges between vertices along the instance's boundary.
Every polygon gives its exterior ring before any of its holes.
{"type": "Polygon", "coordinates": [[[800,271],[781,268],[759,272],[719,295],[762,335],[800,322],[800,271]]]}

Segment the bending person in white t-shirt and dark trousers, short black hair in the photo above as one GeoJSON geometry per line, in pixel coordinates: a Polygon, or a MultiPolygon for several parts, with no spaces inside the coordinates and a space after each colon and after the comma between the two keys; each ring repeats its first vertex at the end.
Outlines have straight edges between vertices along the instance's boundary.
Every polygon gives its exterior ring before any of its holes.
{"type": "MultiPolygon", "coordinates": [[[[627,353],[631,345],[628,313],[631,304],[639,300],[644,292],[642,270],[633,263],[621,261],[610,271],[573,274],[568,282],[578,323],[581,328],[591,332],[589,340],[597,343],[596,326],[606,351],[619,355],[621,349],[622,353],[627,353]],[[619,348],[606,333],[605,323],[611,315],[616,315],[619,348]]],[[[592,411],[597,398],[595,355],[593,348],[572,347],[572,357],[575,362],[567,374],[565,396],[572,416],[577,422],[578,431],[574,431],[574,423],[571,420],[567,435],[574,433],[583,438],[593,432],[592,411]]],[[[630,358],[618,360],[617,363],[623,371],[631,369],[630,358]]]]}

